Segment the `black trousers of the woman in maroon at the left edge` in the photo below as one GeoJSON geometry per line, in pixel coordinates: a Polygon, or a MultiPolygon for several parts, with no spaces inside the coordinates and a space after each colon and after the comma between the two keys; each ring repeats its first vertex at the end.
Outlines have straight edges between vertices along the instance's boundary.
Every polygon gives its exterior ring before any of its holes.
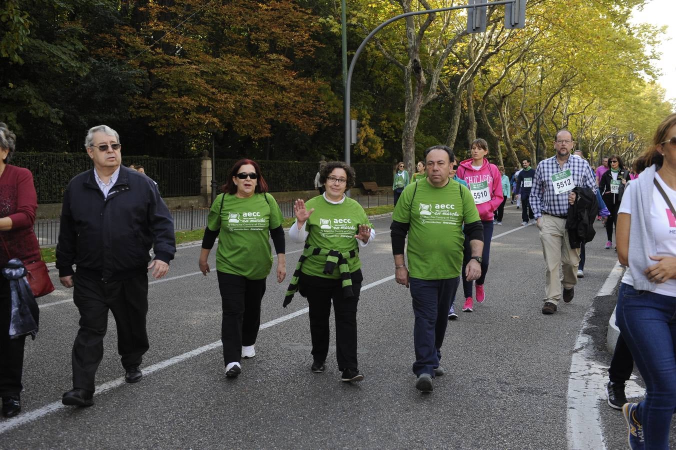
{"type": "MultiPolygon", "coordinates": [[[[35,322],[39,322],[40,311],[31,309],[35,322]]],[[[26,336],[9,339],[11,318],[11,294],[9,281],[0,276],[0,397],[19,395],[24,386],[21,376],[24,371],[24,344],[26,336]]]]}

